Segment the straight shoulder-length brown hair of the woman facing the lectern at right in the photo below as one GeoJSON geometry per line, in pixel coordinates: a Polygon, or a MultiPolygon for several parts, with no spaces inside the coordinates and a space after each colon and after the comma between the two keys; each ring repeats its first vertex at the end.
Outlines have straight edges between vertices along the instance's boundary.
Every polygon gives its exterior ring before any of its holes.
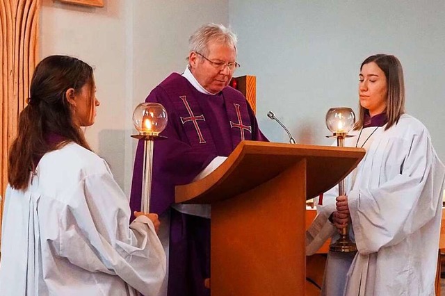
{"type": "MultiPolygon", "coordinates": [[[[401,115],[405,113],[405,82],[403,80],[402,64],[398,58],[388,54],[376,54],[369,56],[360,65],[362,71],[363,65],[374,62],[385,73],[387,78],[388,97],[387,97],[387,118],[388,123],[385,130],[394,124],[397,124],[401,115]]],[[[364,125],[364,115],[369,114],[369,110],[359,104],[359,120],[355,124],[355,129],[361,129],[364,125]]]]}

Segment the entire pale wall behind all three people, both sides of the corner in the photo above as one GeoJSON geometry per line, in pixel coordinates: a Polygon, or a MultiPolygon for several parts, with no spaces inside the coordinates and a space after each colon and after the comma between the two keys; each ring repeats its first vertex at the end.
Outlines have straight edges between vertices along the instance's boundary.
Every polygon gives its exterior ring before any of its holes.
{"type": "Polygon", "coordinates": [[[430,130],[445,160],[445,2],[106,0],[104,8],[42,1],[40,56],[70,54],[95,66],[96,124],[86,134],[125,192],[136,141],[131,115],[170,72],[186,65],[188,36],[206,22],[238,33],[236,76],[257,76],[257,117],[270,140],[286,142],[273,110],[298,142],[330,145],[325,112],[357,110],[359,64],[391,53],[405,69],[407,110],[430,130]]]}

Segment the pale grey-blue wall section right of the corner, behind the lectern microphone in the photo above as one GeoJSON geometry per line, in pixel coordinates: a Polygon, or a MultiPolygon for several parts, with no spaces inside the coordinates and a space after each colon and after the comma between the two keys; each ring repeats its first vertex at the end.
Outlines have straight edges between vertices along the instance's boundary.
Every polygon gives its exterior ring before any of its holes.
{"type": "Polygon", "coordinates": [[[257,117],[270,140],[288,140],[266,117],[273,110],[297,142],[329,145],[326,111],[357,110],[360,63],[386,53],[403,65],[407,112],[445,161],[445,1],[231,0],[229,18],[236,74],[257,76],[257,117]]]}

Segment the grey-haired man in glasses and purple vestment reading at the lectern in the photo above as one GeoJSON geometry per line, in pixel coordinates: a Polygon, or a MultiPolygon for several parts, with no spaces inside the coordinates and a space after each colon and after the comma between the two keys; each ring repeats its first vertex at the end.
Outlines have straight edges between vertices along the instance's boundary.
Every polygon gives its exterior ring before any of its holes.
{"type": "MultiPolygon", "coordinates": [[[[175,186],[214,170],[241,140],[267,141],[243,94],[227,86],[239,67],[236,35],[223,25],[207,24],[189,43],[185,72],[170,74],[146,99],[162,104],[168,113],[161,133],[168,139],[154,142],[150,211],[169,225],[163,242],[169,249],[169,296],[210,295],[204,286],[210,277],[210,206],[174,204],[175,186]]],[[[142,168],[139,142],[131,186],[133,211],[140,211],[142,168]]]]}

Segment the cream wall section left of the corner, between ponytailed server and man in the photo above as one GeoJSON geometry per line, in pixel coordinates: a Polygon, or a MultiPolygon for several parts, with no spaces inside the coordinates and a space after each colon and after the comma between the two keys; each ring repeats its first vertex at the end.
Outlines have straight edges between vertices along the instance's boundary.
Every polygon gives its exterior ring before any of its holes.
{"type": "Polygon", "coordinates": [[[95,67],[102,104],[86,135],[127,194],[133,108],[170,72],[185,69],[188,36],[206,22],[227,25],[227,0],[105,0],[104,8],[42,1],[40,56],[68,54],[95,67]]]}

